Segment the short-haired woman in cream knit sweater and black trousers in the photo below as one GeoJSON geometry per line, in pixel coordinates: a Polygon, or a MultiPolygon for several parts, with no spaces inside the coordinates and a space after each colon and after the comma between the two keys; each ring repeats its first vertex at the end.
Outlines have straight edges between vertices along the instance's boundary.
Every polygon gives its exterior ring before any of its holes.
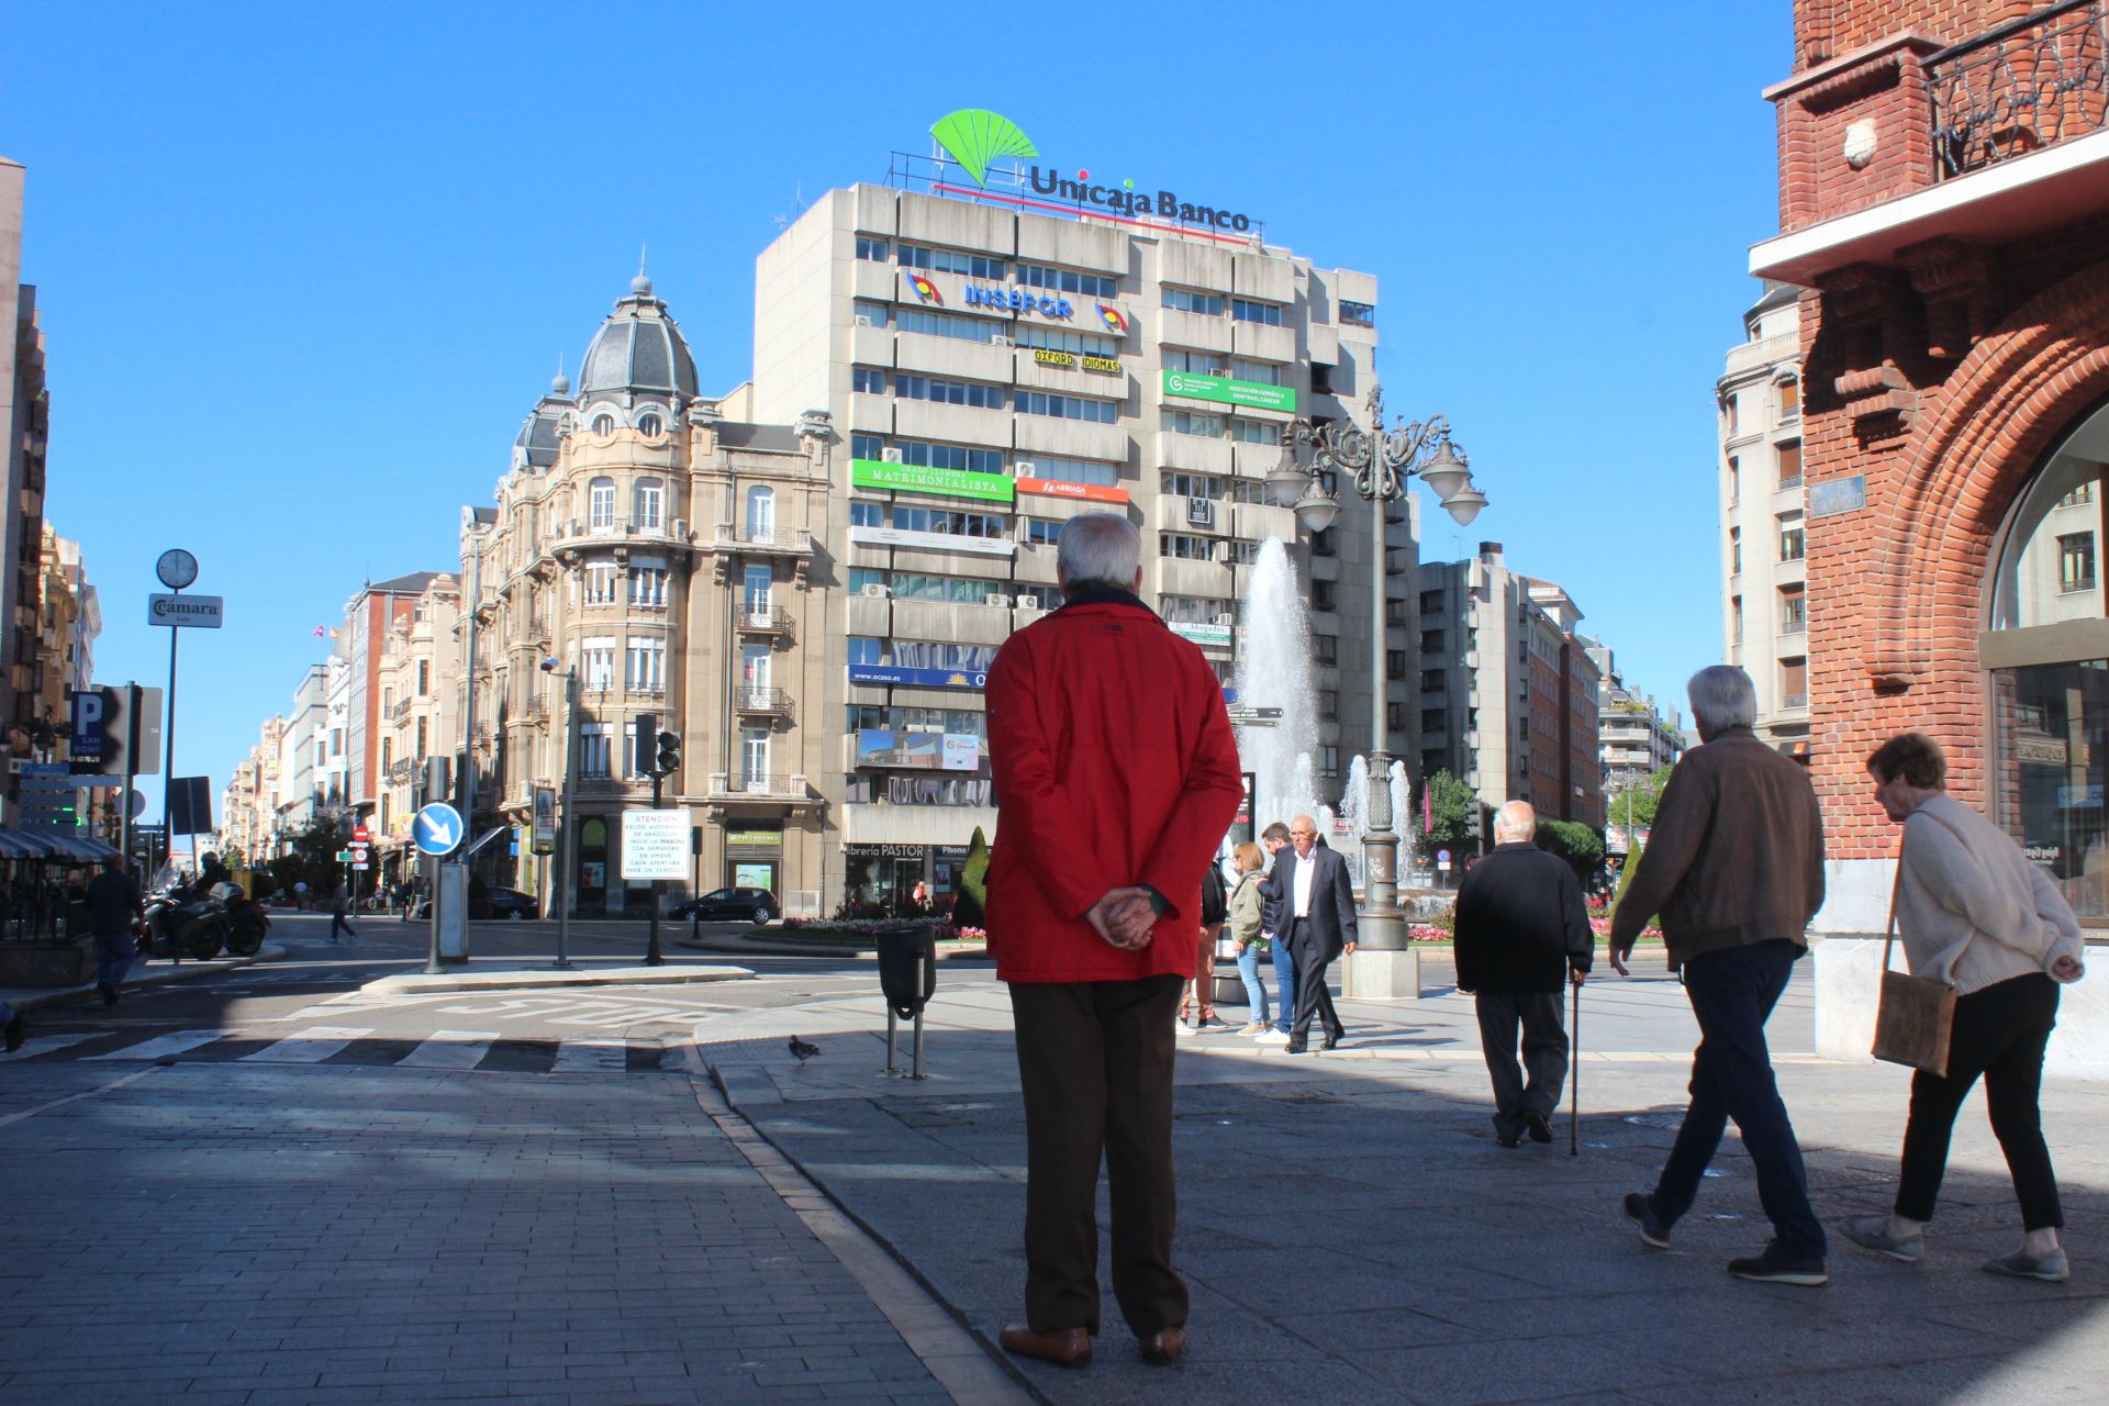
{"type": "Polygon", "coordinates": [[[2082,976],[2079,923],[2020,847],[1985,816],[1949,799],[1940,744],[1915,731],[1869,757],[1875,801],[1904,826],[1896,871],[1896,932],[1913,976],[1955,987],[1947,1075],[1915,1073],[1896,1210],[1854,1216],[1845,1237],[1917,1263],[1934,1218],[1949,1134],[1970,1088],[1985,1077],[1991,1128],[2020,1197],[2020,1250],[1991,1273],[2063,1282],[2058,1180],[2044,1145],[2037,1092],[2044,1046],[2058,1018],[2058,982],[2082,976]]]}

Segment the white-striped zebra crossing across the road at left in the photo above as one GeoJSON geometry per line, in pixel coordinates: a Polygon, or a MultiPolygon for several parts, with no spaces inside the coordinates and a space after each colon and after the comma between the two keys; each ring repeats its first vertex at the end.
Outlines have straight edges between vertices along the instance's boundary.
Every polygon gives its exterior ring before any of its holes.
{"type": "Polygon", "coordinates": [[[110,1065],[226,1062],[243,1067],[367,1067],[426,1073],[652,1073],[666,1065],[654,1039],[515,1039],[498,1031],[432,1031],[424,1037],[375,1035],[371,1027],[316,1024],[285,1033],[268,1027],[169,1031],[61,1031],[36,1035],[0,1065],[80,1060],[110,1065]]]}

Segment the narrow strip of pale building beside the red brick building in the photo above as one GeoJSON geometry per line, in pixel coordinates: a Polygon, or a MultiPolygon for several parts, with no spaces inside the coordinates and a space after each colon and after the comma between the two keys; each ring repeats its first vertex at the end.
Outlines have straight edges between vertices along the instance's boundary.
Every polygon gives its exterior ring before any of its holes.
{"type": "Polygon", "coordinates": [[[1807,497],[1799,293],[1767,282],[1715,386],[1721,411],[1721,632],[1757,685],[1757,736],[1810,755],[1807,497]]]}

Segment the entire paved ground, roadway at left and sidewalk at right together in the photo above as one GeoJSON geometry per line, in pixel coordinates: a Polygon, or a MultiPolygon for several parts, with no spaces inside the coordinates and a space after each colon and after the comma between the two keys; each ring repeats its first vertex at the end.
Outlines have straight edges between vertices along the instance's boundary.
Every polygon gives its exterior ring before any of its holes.
{"type": "MultiPolygon", "coordinates": [[[[1691,1041],[1677,984],[1592,982],[1580,1155],[1565,1113],[1552,1147],[1504,1151],[1470,1001],[1432,959],[1419,1001],[1343,1001],[1337,1054],[1181,1037],[1192,1349],[1143,1368],[1107,1303],[1097,1362],[1071,1372],[989,1349],[1019,1315],[1023,1130],[985,963],[943,965],[913,1081],[884,1073],[865,961],[388,995],[373,982],[413,970],[401,951],[340,955],[318,932],[289,925],[283,961],[114,1014],[44,1008],[34,1039],[63,1043],[0,1060],[0,1398],[2109,1395],[2109,1086],[2046,1094],[2071,1284],[1976,1269],[2016,1231],[1980,1102],[1923,1267],[1835,1244],[1824,1290],[1742,1284],[1723,1265],[1765,1225],[1734,1136],[1672,1250],[1618,1214],[1675,1132],[1691,1041]],[[215,1039],[181,1039],[198,1031],[215,1039]],[[791,1035],[820,1054],[795,1060],[791,1035]]],[[[1818,1208],[1883,1208],[1904,1071],[1816,1060],[1805,976],[1774,1035],[1818,1208]]]]}

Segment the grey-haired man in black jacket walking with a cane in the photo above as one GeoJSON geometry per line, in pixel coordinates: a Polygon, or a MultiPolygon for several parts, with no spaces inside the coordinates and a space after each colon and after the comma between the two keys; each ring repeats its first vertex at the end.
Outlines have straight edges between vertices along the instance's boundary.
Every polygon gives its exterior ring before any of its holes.
{"type": "Polygon", "coordinates": [[[1493,854],[1466,871],[1457,887],[1457,991],[1474,993],[1478,1046],[1493,1079],[1493,1136],[1502,1147],[1514,1147],[1525,1132],[1533,1143],[1552,1140],[1552,1113],[1567,1081],[1561,995],[1569,982],[1588,980],[1597,951],[1582,881],[1567,860],[1531,843],[1535,835],[1537,812],[1529,803],[1497,809],[1493,854]]]}

